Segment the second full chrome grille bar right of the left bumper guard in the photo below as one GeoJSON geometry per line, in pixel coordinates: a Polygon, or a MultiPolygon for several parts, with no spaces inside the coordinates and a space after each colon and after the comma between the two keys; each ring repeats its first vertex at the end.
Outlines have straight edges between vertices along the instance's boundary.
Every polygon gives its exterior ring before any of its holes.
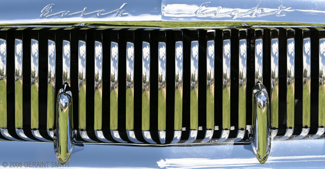
{"type": "Polygon", "coordinates": [[[95,41],[95,93],[94,93],[94,129],[102,129],[102,68],[103,68],[102,43],[95,41]]]}

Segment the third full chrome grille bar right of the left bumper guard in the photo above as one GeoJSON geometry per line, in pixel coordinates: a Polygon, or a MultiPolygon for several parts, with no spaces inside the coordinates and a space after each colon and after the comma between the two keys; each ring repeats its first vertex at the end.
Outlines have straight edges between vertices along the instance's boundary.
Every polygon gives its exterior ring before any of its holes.
{"type": "Polygon", "coordinates": [[[118,44],[111,42],[110,52],[110,129],[117,129],[118,105],[118,44]]]}

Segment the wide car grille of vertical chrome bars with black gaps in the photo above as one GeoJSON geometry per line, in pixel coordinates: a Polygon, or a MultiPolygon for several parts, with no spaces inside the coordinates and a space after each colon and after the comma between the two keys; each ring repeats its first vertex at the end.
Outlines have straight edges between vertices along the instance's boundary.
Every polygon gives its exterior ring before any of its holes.
{"type": "Polygon", "coordinates": [[[0,137],[52,140],[56,96],[67,83],[79,141],[248,142],[257,82],[270,96],[273,136],[312,136],[325,123],[324,33],[3,28],[0,137]]]}

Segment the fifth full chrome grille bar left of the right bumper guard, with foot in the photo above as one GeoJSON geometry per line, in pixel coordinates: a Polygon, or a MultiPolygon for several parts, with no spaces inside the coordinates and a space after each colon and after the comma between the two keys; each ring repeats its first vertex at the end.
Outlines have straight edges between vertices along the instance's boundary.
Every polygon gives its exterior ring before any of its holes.
{"type": "MultiPolygon", "coordinates": [[[[183,113],[183,42],[175,43],[175,130],[182,130],[183,113]]],[[[182,131],[174,131],[172,143],[180,141],[182,131]],[[177,134],[177,135],[175,135],[177,134]]]]}

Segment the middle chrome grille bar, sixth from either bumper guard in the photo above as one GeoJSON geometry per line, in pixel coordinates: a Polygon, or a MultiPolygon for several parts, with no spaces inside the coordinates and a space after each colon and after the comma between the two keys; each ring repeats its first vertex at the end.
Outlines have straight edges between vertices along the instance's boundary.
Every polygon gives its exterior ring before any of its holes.
{"type": "Polygon", "coordinates": [[[166,130],[166,43],[159,42],[158,49],[158,130],[160,132],[166,130]]]}

